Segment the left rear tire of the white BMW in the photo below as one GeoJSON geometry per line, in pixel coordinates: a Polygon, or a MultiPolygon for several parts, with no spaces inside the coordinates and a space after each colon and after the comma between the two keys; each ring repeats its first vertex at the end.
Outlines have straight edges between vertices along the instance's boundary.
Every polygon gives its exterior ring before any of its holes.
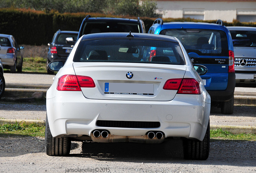
{"type": "Polygon", "coordinates": [[[71,141],[68,137],[52,137],[48,118],[45,122],[45,153],[49,156],[64,156],[70,153],[71,141]]]}

